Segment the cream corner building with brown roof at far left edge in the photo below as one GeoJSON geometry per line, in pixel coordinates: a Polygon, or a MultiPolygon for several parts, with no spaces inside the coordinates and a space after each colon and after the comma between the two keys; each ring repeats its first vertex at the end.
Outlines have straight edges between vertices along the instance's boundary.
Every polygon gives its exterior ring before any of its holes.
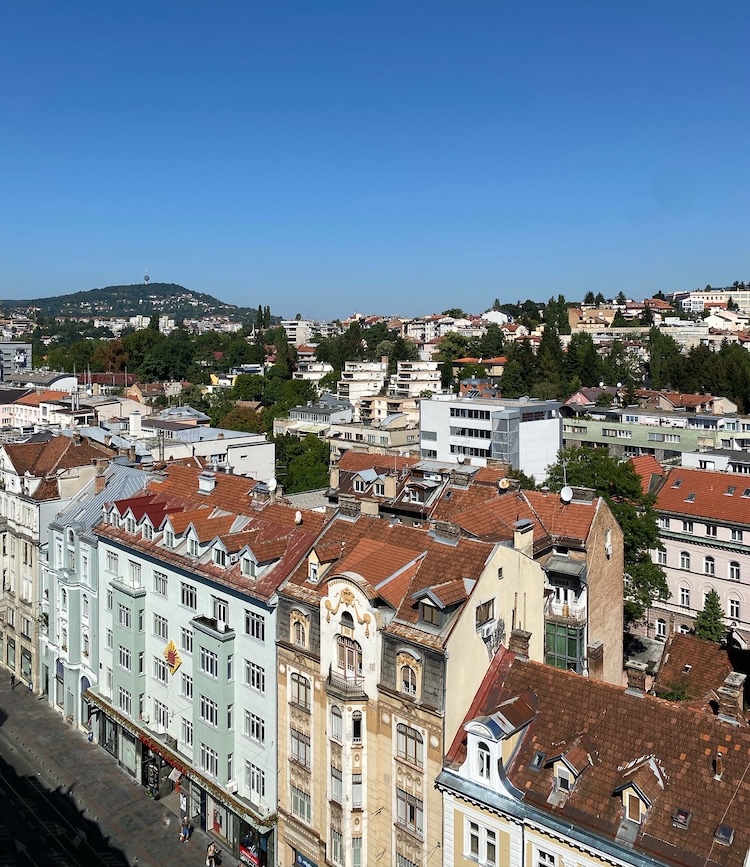
{"type": "MultiPolygon", "coordinates": [[[[0,447],[0,659],[39,692],[39,639],[44,625],[40,553],[50,522],[87,485],[113,452],[65,436],[0,447]]],[[[44,684],[42,684],[43,686],[44,684]]]]}

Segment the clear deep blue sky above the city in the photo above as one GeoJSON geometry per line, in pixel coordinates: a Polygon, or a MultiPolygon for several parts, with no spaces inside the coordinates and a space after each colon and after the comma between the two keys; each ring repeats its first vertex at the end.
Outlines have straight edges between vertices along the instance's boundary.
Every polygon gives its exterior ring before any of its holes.
{"type": "Polygon", "coordinates": [[[750,280],[750,3],[0,9],[0,297],[274,314],[750,280]]]}

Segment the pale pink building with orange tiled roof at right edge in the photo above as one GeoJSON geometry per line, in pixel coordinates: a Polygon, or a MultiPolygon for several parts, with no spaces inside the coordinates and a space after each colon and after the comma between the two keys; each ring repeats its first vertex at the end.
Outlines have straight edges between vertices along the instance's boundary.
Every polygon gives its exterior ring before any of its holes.
{"type": "Polygon", "coordinates": [[[664,549],[653,559],[671,596],[651,609],[649,635],[688,632],[715,590],[727,628],[741,644],[750,642],[750,485],[741,475],[675,467],[655,508],[664,549]]]}

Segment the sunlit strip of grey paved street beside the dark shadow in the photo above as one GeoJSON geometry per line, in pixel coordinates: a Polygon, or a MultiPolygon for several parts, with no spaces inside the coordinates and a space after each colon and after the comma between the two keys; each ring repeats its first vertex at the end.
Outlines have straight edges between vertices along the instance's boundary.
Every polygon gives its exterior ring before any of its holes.
{"type": "MultiPolygon", "coordinates": [[[[152,801],[116,760],[86,734],[76,731],[51,710],[46,696],[30,693],[19,683],[11,690],[0,682],[0,708],[7,719],[0,735],[35,766],[52,788],[70,791],[80,809],[95,821],[113,847],[138,867],[203,867],[209,838],[196,829],[180,843],[180,819],[159,801],[152,801]]],[[[222,847],[223,867],[237,860],[222,847]]]]}

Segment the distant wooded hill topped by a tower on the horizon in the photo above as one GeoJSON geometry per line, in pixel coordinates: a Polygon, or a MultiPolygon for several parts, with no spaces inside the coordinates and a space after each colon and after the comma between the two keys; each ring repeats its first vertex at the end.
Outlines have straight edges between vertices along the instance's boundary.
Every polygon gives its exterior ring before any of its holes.
{"type": "Polygon", "coordinates": [[[173,319],[203,319],[207,316],[226,316],[236,321],[254,319],[251,307],[227,304],[213,295],[194,292],[177,283],[133,283],[128,286],[104,286],[69,295],[50,298],[2,300],[4,316],[12,314],[44,318],[55,316],[129,317],[168,315],[173,319]]]}

